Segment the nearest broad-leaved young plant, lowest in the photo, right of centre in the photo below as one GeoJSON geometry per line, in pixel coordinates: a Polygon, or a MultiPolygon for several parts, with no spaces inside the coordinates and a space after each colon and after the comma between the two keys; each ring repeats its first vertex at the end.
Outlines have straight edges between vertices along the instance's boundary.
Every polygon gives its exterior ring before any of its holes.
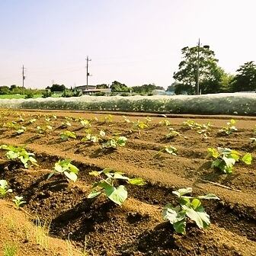
{"type": "Polygon", "coordinates": [[[172,193],[178,197],[178,206],[168,203],[162,213],[163,219],[171,222],[174,230],[183,235],[186,234],[187,217],[196,222],[200,229],[206,229],[210,226],[210,216],[205,212],[200,200],[219,200],[219,197],[216,197],[215,194],[206,194],[199,197],[187,196],[191,192],[191,187],[173,191],[172,193]]]}

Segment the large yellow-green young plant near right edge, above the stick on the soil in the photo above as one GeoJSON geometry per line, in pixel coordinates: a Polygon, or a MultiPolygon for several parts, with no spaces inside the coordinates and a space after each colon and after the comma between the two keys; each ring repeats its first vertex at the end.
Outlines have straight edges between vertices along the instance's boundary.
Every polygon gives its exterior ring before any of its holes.
{"type": "Polygon", "coordinates": [[[242,161],[246,165],[251,165],[251,154],[246,153],[243,157],[242,154],[226,148],[208,148],[208,155],[206,158],[212,158],[213,162],[211,168],[218,168],[222,172],[226,174],[231,174],[233,171],[233,166],[235,162],[242,161]]]}

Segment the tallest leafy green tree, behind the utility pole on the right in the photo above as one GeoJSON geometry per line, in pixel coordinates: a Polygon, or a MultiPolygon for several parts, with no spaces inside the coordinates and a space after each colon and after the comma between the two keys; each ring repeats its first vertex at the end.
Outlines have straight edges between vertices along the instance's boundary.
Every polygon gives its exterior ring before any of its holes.
{"type": "Polygon", "coordinates": [[[200,91],[203,94],[219,92],[219,81],[223,71],[217,65],[218,59],[209,46],[187,46],[181,50],[182,61],[178,66],[178,72],[174,72],[173,76],[178,84],[175,91],[184,91],[185,89],[187,94],[196,92],[198,50],[200,91]]]}

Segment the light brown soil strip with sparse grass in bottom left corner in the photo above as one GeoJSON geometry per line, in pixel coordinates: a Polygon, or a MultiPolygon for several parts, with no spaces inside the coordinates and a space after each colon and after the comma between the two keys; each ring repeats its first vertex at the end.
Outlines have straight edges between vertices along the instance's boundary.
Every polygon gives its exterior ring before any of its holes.
{"type": "MultiPolygon", "coordinates": [[[[13,203],[0,200],[0,255],[14,256],[81,256],[71,243],[51,238],[41,226],[34,226],[33,218],[23,209],[16,210],[13,203]],[[15,254],[7,254],[5,248],[15,248],[15,254]],[[71,254],[69,254],[71,252],[71,254]]],[[[40,223],[40,220],[37,221],[40,223]]],[[[46,226],[45,226],[46,229],[46,226]]]]}

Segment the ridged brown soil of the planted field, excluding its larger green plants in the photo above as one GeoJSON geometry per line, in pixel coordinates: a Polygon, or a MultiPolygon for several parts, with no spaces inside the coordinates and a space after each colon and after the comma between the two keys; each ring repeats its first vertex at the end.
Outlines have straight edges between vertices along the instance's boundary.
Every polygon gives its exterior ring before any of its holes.
{"type": "Polygon", "coordinates": [[[27,145],[38,162],[38,166],[24,168],[8,161],[5,150],[0,150],[0,179],[8,181],[13,190],[7,200],[22,195],[26,200],[22,209],[43,221],[51,219],[50,235],[54,238],[69,237],[78,248],[84,248],[86,236],[88,255],[97,256],[256,255],[256,142],[250,140],[256,136],[256,117],[235,117],[238,130],[224,136],[219,129],[230,117],[150,114],[149,119],[138,113],[110,116],[60,110],[2,110],[0,114],[0,144],[27,145]],[[200,124],[210,122],[209,133],[204,136],[184,125],[188,117],[200,124]],[[133,126],[138,119],[148,123],[140,132],[133,126]],[[103,130],[107,136],[125,136],[126,145],[101,149],[99,142],[82,142],[86,129],[81,120],[91,120],[88,128],[92,134],[103,130]],[[159,123],[164,120],[170,125],[159,123]],[[11,126],[13,121],[16,123],[11,126]],[[52,130],[38,133],[37,126],[46,124],[52,130]],[[26,129],[18,134],[21,126],[26,129]],[[170,128],[180,135],[167,138],[170,128]],[[66,130],[74,132],[76,138],[61,139],[66,130]],[[165,146],[174,146],[177,155],[159,152],[165,146]],[[251,153],[251,165],[238,162],[232,174],[211,168],[207,149],[217,147],[251,153]],[[78,180],[69,182],[61,174],[47,180],[54,163],[66,158],[78,167],[78,180]],[[89,172],[104,168],[142,178],[146,184],[127,184],[128,198],[122,206],[103,196],[88,199],[96,181],[89,172]],[[162,219],[165,204],[177,204],[172,191],[183,187],[192,187],[196,196],[211,193],[219,197],[203,200],[210,215],[209,229],[199,229],[187,221],[187,234],[181,235],[162,219]]]}

